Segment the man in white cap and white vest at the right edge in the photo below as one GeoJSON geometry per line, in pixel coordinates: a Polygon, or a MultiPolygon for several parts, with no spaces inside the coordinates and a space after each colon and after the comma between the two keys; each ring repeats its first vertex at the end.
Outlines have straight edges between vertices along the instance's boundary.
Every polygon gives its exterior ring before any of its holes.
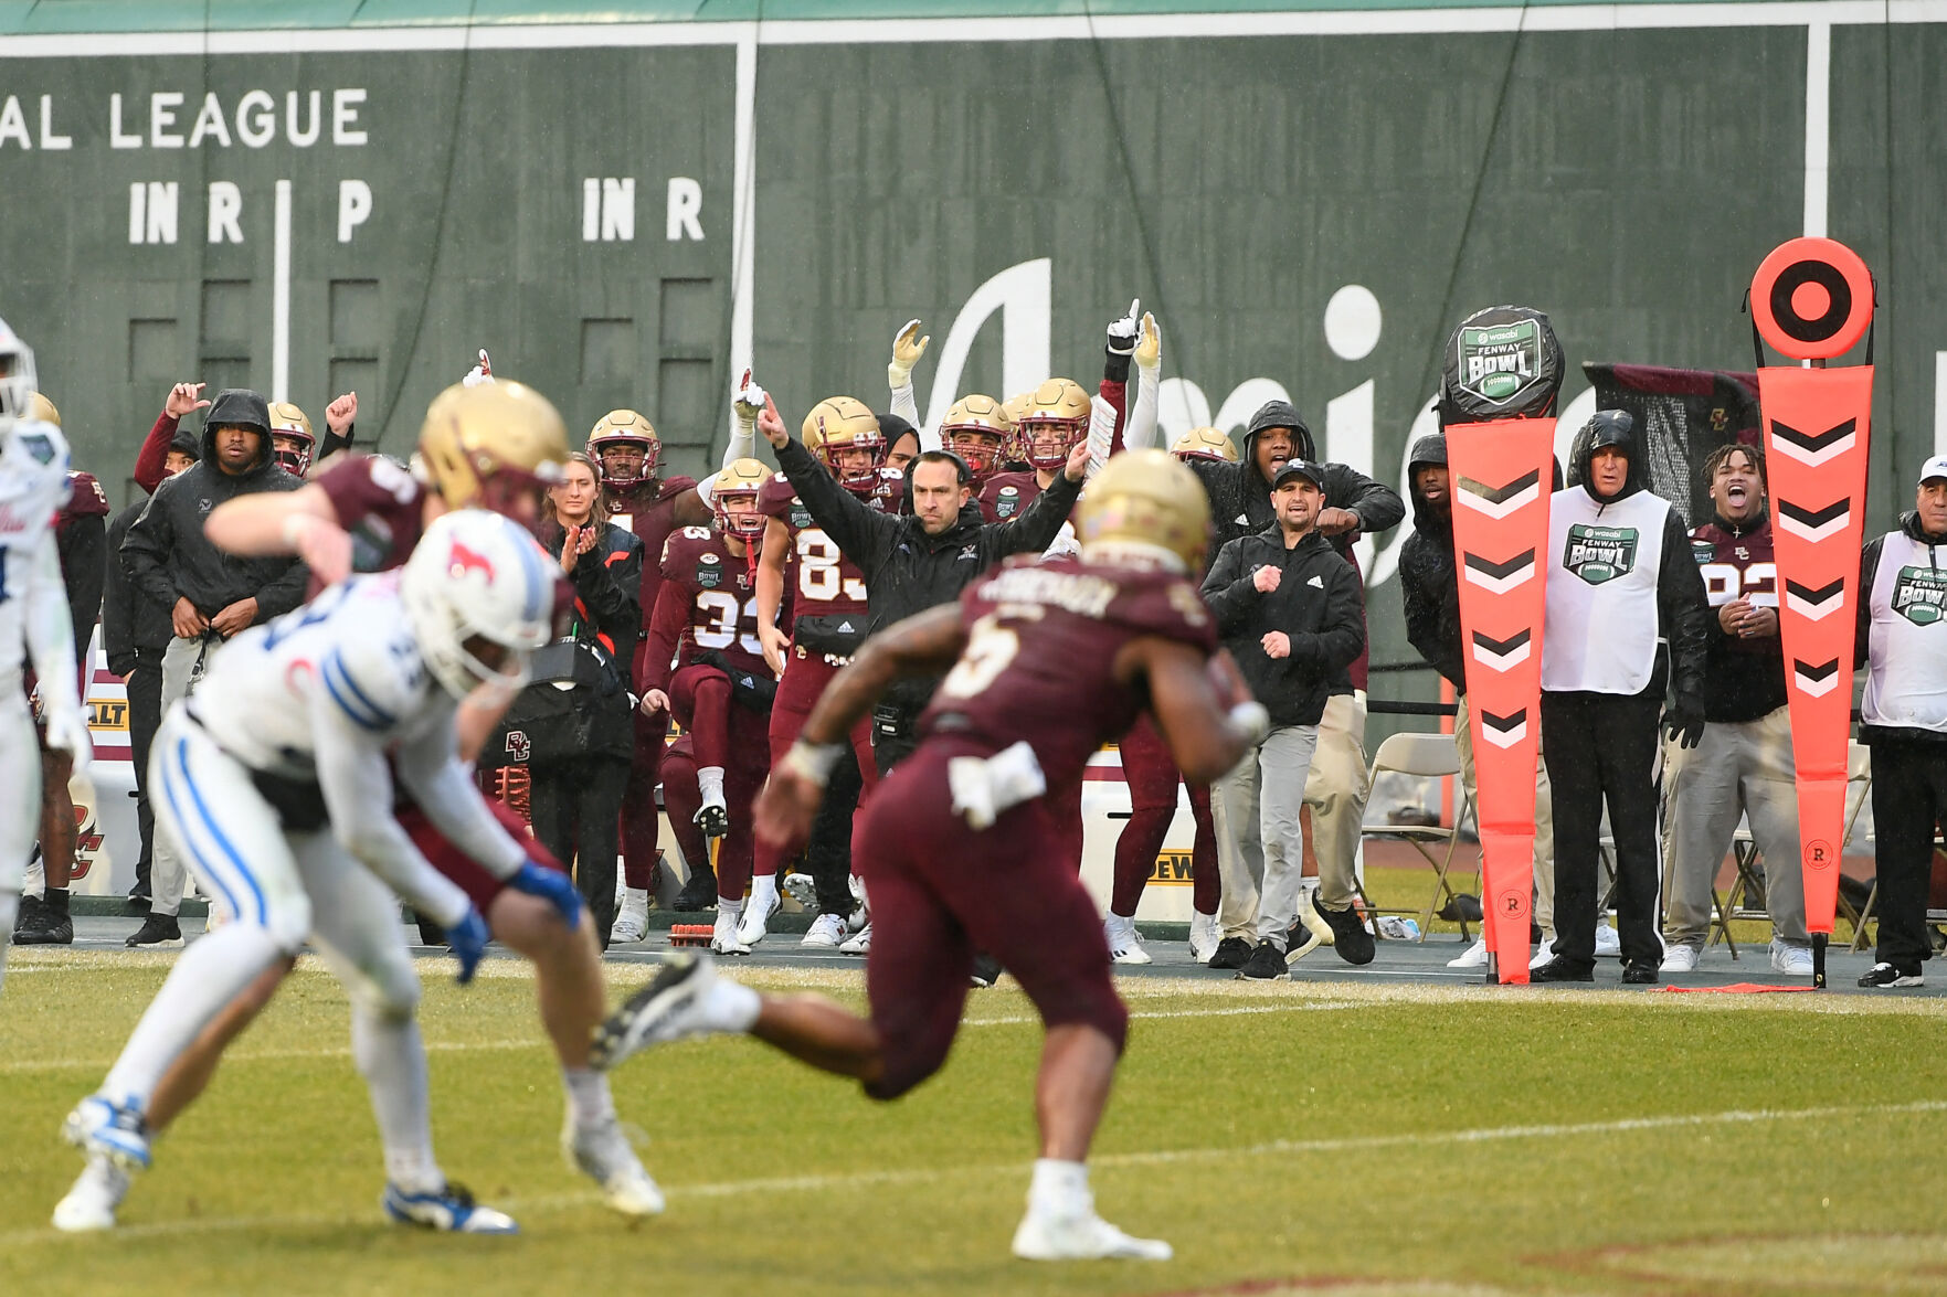
{"type": "Polygon", "coordinates": [[[1873,750],[1879,948],[1859,985],[1922,985],[1933,826],[1947,814],[1947,456],[1920,469],[1914,512],[1865,547],[1859,742],[1873,750]]]}

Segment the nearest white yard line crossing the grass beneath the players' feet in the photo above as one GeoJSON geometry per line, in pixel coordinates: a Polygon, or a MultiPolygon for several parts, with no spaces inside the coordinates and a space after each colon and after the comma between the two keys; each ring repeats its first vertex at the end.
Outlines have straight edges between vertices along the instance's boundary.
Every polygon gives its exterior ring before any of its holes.
{"type": "MultiPolygon", "coordinates": [[[[1396,1135],[1351,1135],[1345,1139],[1269,1139],[1240,1149],[1157,1149],[1151,1153],[1110,1153],[1090,1159],[1096,1167],[1155,1167],[1162,1163],[1207,1163],[1246,1157],[1281,1157],[1289,1153],[1341,1153],[1357,1149],[1388,1149],[1398,1145],[1468,1145],[1517,1139],[1560,1139],[1563,1135],[1622,1135],[1643,1130],[1682,1130],[1696,1126],[1758,1126],[1766,1122],[1824,1122],[1830,1118],[1902,1116],[1947,1112],[1947,1100],[1906,1104],[1850,1104],[1824,1108],[1729,1108],[1723,1112],[1678,1112],[1647,1118],[1618,1118],[1612,1122],[1560,1122],[1546,1126],[1486,1126],[1452,1131],[1404,1131],[1396,1135]]],[[[765,1180],[724,1180],[718,1184],[666,1184],[670,1198],[740,1198],[746,1194],[826,1192],[835,1188],[874,1188],[884,1184],[933,1184],[938,1180],[981,1174],[1026,1174],[1026,1163],[983,1163],[972,1167],[915,1167],[909,1170],[855,1170],[829,1176],[777,1176],[765,1180]]],[[[576,1194],[547,1194],[537,1198],[506,1198],[500,1205],[518,1209],[557,1209],[596,1202],[594,1190],[576,1194]]],[[[148,1239],[171,1235],[222,1233],[239,1229],[302,1229],[308,1225],[343,1225],[370,1219],[368,1215],[263,1215],[191,1221],[156,1221],[125,1225],[115,1239],[148,1239]]],[[[0,1233],[0,1248],[74,1239],[51,1227],[0,1233]]],[[[88,1235],[84,1235],[88,1239],[88,1235]]]]}

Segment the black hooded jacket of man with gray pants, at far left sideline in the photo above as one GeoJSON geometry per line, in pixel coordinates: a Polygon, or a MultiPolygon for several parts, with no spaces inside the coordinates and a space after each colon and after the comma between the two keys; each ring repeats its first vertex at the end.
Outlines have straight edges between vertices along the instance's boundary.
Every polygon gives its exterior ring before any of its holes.
{"type": "Polygon", "coordinates": [[[216,395],[202,421],[202,454],[195,467],[156,487],[142,516],[123,537],[121,563],[144,598],[173,610],[187,598],[204,617],[255,596],[257,621],[269,621],[304,602],[310,571],[298,559],[239,559],[202,534],[202,520],[224,500],[257,491],[296,491],[292,477],[271,458],[271,411],[255,391],[238,388],[216,395]],[[247,425],[263,438],[257,462],[232,477],[216,463],[216,426],[247,425]]]}

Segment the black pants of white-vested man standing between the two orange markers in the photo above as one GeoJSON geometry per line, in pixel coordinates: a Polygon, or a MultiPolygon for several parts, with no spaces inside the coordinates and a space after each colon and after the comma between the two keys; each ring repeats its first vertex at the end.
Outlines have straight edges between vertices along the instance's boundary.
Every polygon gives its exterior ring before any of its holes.
{"type": "Polygon", "coordinates": [[[1616,839],[1616,929],[1628,964],[1663,960],[1657,935],[1657,723],[1663,691],[1542,693],[1556,808],[1556,954],[1595,966],[1602,804],[1616,839]]]}

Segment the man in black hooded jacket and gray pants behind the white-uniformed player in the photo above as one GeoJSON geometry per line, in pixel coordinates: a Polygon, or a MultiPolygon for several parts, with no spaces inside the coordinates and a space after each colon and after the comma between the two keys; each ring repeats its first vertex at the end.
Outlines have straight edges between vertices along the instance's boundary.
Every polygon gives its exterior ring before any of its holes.
{"type": "MultiPolygon", "coordinates": [[[[173,637],[162,654],[162,711],[202,678],[208,656],[238,631],[278,617],[304,602],[310,571],[298,559],[239,559],[202,534],[202,520],[228,499],[253,491],[296,491],[271,456],[271,407],[249,389],[220,391],[202,421],[202,458],[169,477],[150,497],[123,537],[129,584],[169,610],[173,637]]],[[[150,908],[130,946],[177,946],[177,909],[189,880],[187,863],[158,834],[152,847],[150,908]]]]}

